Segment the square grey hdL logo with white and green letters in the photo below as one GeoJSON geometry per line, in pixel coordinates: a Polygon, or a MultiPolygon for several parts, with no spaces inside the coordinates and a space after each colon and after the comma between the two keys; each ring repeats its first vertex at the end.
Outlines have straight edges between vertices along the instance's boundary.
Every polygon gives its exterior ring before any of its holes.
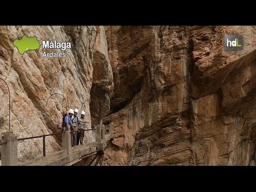
{"type": "Polygon", "coordinates": [[[243,47],[243,35],[225,35],[225,51],[241,51],[243,47]]]}

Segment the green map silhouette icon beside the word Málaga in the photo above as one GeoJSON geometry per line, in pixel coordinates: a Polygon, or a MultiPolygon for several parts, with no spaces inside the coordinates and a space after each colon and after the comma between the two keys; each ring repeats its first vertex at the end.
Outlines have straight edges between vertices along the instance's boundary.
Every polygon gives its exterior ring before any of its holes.
{"type": "Polygon", "coordinates": [[[36,37],[27,37],[26,35],[23,35],[21,39],[15,39],[13,45],[18,48],[20,54],[29,50],[37,50],[40,47],[36,37]]]}

